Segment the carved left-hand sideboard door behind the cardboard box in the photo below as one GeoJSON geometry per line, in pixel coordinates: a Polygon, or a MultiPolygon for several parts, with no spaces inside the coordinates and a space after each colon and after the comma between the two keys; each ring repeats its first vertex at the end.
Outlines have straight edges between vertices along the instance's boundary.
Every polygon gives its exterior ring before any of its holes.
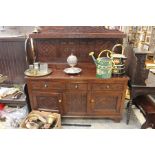
{"type": "Polygon", "coordinates": [[[61,113],[62,94],[57,92],[33,92],[33,108],[61,113]]]}

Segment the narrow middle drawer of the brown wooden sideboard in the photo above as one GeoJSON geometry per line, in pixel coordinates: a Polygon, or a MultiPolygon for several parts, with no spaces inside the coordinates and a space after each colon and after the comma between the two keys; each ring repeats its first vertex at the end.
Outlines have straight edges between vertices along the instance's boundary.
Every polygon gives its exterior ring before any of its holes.
{"type": "Polygon", "coordinates": [[[70,90],[87,90],[88,84],[87,83],[68,83],[67,89],[70,89],[70,90]]]}

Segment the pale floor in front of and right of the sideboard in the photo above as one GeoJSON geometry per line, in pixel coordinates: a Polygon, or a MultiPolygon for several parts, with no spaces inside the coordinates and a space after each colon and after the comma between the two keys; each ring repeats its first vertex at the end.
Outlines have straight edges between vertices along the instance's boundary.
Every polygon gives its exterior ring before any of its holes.
{"type": "Polygon", "coordinates": [[[63,129],[140,129],[145,121],[142,114],[135,107],[132,109],[130,122],[126,124],[126,109],[123,110],[123,119],[116,123],[110,119],[70,119],[62,118],[63,129]],[[143,119],[143,120],[142,120],[143,119]]]}

